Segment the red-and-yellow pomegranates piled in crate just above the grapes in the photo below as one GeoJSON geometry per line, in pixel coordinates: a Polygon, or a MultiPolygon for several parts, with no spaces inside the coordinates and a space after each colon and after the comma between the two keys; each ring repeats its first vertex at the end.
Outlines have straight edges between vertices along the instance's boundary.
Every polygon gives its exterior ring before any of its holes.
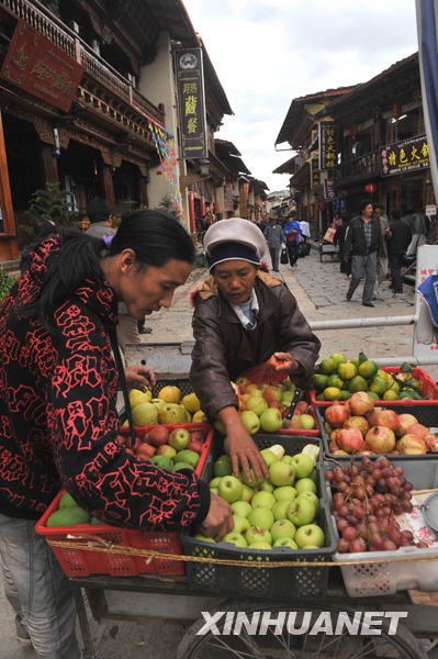
{"type": "Polygon", "coordinates": [[[345,403],[327,407],[325,429],[334,455],[420,456],[428,451],[438,453],[438,436],[418,423],[413,414],[375,407],[374,400],[364,391],[353,393],[345,403]]]}

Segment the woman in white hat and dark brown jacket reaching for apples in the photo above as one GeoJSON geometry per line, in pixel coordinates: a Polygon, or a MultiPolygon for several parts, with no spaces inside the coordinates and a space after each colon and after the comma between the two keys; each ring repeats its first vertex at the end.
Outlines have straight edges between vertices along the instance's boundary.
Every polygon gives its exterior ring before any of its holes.
{"type": "Polygon", "coordinates": [[[296,300],[277,277],[259,270],[266,245],[259,228],[239,217],[212,226],[204,237],[209,277],[194,297],[190,379],[202,410],[225,426],[233,470],[267,473],[265,460],[238,415],[231,383],[274,357],[273,370],[299,387],[310,383],[321,343],[296,300]]]}

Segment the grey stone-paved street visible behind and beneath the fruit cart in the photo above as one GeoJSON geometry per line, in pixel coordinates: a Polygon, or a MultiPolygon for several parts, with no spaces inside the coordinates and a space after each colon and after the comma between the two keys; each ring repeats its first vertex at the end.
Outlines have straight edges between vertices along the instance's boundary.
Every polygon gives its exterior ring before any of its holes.
{"type": "MultiPolygon", "coordinates": [[[[177,291],[170,310],[150,316],[147,324],[153,327],[151,335],[143,335],[142,342],[176,342],[191,338],[190,290],[206,275],[205,270],[195,270],[189,282],[177,291]]],[[[308,320],[349,319],[351,316],[378,316],[412,314],[414,310],[413,289],[405,286],[403,295],[393,297],[388,284],[378,292],[375,309],[361,305],[361,287],[353,300],[347,302],[345,293],[348,281],[339,272],[339,263],[325,257],[319,264],[318,255],[300,259],[293,271],[281,266],[281,276],[299,301],[299,305],[308,320]]],[[[385,355],[402,356],[412,351],[412,327],[384,327],[321,333],[322,356],[332,351],[342,351],[352,357],[360,349],[371,357],[385,355]]],[[[434,370],[428,367],[429,372],[434,370]]],[[[136,595],[125,595],[125,600],[136,595]]],[[[115,597],[119,599],[117,596],[115,597]]],[[[141,606],[141,604],[138,604],[141,606]]],[[[176,647],[184,633],[184,627],[160,623],[128,623],[108,621],[93,623],[93,637],[102,659],[173,659],[176,647]]],[[[0,658],[32,659],[32,650],[18,649],[13,635],[13,618],[4,595],[0,592],[0,658]]]]}

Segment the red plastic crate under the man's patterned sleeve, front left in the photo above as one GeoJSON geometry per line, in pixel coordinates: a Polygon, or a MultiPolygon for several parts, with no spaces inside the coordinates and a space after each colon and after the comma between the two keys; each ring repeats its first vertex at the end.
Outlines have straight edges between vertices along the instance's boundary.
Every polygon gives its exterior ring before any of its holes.
{"type": "MultiPolygon", "coordinates": [[[[53,500],[35,526],[36,533],[54,540],[83,543],[89,546],[102,546],[98,538],[116,545],[137,549],[156,549],[165,554],[182,554],[177,532],[136,530],[117,528],[110,525],[94,526],[76,524],[75,526],[47,527],[47,518],[58,510],[59,500],[66,491],[61,490],[53,500]],[[93,539],[96,538],[96,539],[93,539]]],[[[52,547],[67,577],[90,577],[90,574],[111,574],[112,577],[133,577],[135,574],[160,574],[175,577],[186,573],[183,561],[147,557],[125,556],[114,550],[92,551],[82,548],[52,547]]]]}

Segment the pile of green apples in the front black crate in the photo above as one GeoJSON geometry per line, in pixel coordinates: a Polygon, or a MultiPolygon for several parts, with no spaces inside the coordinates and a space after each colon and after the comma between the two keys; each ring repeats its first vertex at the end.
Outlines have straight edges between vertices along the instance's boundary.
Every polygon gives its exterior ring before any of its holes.
{"type": "MultiPolygon", "coordinates": [[[[315,445],[294,456],[284,455],[280,445],[265,448],[261,455],[269,467],[269,480],[261,483],[256,481],[254,472],[251,482],[243,474],[232,476],[228,456],[221,456],[214,465],[215,478],[210,488],[231,503],[234,521],[233,532],[222,541],[266,550],[323,547],[324,532],[315,523],[319,511],[315,469],[318,451],[315,445]]],[[[195,537],[214,541],[199,534],[195,537]]]]}

